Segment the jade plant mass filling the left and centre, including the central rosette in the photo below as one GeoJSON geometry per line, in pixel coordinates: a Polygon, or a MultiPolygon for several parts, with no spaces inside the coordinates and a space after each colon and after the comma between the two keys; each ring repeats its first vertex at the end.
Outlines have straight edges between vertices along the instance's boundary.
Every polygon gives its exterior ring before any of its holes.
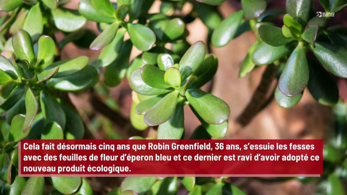
{"type": "MultiPolygon", "coordinates": [[[[183,107],[187,105],[202,124],[191,138],[226,135],[229,106],[199,89],[213,78],[218,60],[206,55],[202,41],[193,45],[186,41],[186,24],[197,15],[210,29],[217,23],[206,18],[204,11],[222,20],[214,7],[222,1],[191,2],[194,8],[186,15],[181,11],[188,1],[162,2],[161,13],[154,14],[148,13],[154,1],[81,0],[78,10],[66,8],[67,3],[0,1],[4,12],[0,18],[3,194],[93,194],[89,182],[81,177],[19,177],[18,142],[89,138],[89,128],[85,129],[88,124],[75,110],[68,93],[98,93],[100,86],[117,86],[124,77],[134,90],[129,119],[134,128],[158,126],[157,138],[183,138],[183,107]],[[100,35],[83,28],[88,20],[97,23],[100,35]],[[63,38],[57,36],[59,33],[63,38]],[[126,34],[129,39],[125,39],[126,34]],[[101,53],[92,61],[85,56],[62,59],[61,52],[69,43],[101,53]],[[134,47],[142,53],[130,61],[134,47]]],[[[244,194],[227,178],[212,177],[128,177],[109,194],[176,193],[179,183],[196,194],[215,194],[222,189],[244,194]]]]}

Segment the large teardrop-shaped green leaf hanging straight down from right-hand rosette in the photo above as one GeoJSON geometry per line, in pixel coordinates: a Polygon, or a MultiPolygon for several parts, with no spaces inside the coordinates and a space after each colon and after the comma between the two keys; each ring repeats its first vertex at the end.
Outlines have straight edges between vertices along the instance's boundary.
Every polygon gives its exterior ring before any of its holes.
{"type": "Polygon", "coordinates": [[[306,48],[299,44],[284,67],[278,86],[284,95],[293,97],[301,93],[308,82],[309,65],[306,59],[306,48]]]}

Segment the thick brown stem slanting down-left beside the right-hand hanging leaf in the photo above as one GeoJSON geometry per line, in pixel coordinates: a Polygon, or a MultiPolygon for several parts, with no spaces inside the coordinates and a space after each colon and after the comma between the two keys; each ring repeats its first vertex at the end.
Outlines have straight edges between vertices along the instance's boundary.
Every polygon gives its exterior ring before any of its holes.
{"type": "Polygon", "coordinates": [[[272,81],[276,77],[279,66],[270,64],[263,73],[262,80],[253,93],[251,101],[243,112],[236,118],[235,125],[238,128],[245,127],[250,123],[258,112],[260,112],[267,101],[267,93],[270,90],[272,81]]]}

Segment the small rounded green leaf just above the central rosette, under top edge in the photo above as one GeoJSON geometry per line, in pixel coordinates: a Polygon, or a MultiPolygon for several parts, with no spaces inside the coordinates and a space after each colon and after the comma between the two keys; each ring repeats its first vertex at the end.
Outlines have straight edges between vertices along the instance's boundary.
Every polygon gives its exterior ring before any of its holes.
{"type": "Polygon", "coordinates": [[[172,41],[183,35],[186,25],[180,18],[170,20],[164,30],[164,40],[172,41]]]}

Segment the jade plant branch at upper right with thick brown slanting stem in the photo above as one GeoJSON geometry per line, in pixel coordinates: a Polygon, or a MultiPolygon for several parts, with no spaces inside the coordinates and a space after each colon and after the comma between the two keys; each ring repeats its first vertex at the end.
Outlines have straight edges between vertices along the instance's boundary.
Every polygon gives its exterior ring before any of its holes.
{"type": "MultiPolygon", "coordinates": [[[[327,13],[337,13],[347,2],[320,1],[327,13]]],[[[345,27],[328,26],[333,17],[316,15],[311,0],[288,0],[286,10],[267,10],[267,2],[242,0],[242,10],[227,17],[216,27],[211,42],[223,47],[241,33],[251,30],[257,41],[249,48],[241,65],[239,77],[257,66],[267,66],[261,84],[252,101],[237,118],[245,126],[269,104],[267,92],[277,77],[273,90],[277,104],[283,108],[295,106],[307,87],[318,103],[333,106],[339,100],[334,77],[347,78],[345,27]],[[273,20],[282,19],[277,27],[273,20]],[[313,53],[313,55],[310,55],[313,53]],[[331,76],[334,75],[334,76],[331,76]]]]}

